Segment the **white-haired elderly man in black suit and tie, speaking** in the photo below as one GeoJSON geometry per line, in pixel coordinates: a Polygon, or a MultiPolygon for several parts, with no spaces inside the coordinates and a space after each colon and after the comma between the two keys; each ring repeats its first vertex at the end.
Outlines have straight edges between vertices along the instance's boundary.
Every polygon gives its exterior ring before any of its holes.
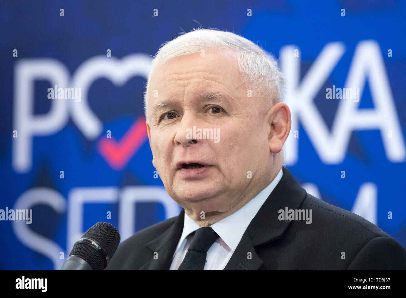
{"type": "Polygon", "coordinates": [[[406,269],[393,238],[309,195],[283,167],[284,86],[276,61],[231,32],[194,30],[160,48],[147,131],[183,208],[121,243],[106,269],[406,269]]]}

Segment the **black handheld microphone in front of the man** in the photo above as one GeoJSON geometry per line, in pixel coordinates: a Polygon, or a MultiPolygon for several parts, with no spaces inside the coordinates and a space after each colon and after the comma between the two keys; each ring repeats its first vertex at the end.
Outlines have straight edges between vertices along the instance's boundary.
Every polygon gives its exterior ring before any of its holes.
{"type": "Polygon", "coordinates": [[[120,244],[119,231],[110,223],[95,223],[75,242],[60,270],[103,270],[120,244]]]}

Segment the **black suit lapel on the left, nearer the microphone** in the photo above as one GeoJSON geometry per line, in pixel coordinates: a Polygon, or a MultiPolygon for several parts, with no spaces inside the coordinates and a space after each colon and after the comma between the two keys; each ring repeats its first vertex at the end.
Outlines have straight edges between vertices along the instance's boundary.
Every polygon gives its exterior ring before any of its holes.
{"type": "Polygon", "coordinates": [[[175,223],[160,236],[145,245],[151,251],[151,260],[139,270],[169,270],[171,268],[173,253],[183,231],[184,212],[185,209],[182,208],[175,223]],[[158,259],[153,258],[155,252],[158,253],[158,259]]]}

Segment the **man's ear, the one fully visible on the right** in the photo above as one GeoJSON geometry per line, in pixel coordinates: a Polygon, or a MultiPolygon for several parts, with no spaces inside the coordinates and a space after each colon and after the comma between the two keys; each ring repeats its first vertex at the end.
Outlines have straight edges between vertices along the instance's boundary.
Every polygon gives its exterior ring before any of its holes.
{"type": "Polygon", "coordinates": [[[265,117],[269,149],[272,153],[282,150],[292,126],[290,109],[285,103],[276,103],[265,117]]]}

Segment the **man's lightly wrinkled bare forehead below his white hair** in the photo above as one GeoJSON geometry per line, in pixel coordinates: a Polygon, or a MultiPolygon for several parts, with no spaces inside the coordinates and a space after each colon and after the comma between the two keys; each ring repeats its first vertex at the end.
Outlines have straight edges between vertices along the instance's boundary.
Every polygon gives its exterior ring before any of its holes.
{"type": "Polygon", "coordinates": [[[242,86],[242,75],[230,52],[206,49],[172,58],[153,71],[150,80],[150,101],[161,95],[178,92],[235,92],[242,86]],[[204,90],[202,90],[204,89],[204,90]]]}

